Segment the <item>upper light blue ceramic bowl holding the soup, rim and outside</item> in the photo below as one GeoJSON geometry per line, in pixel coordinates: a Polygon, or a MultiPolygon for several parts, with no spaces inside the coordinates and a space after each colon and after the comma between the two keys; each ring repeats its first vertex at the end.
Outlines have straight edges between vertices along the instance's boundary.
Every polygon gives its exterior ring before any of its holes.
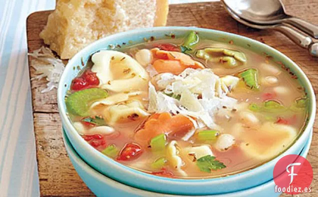
{"type": "Polygon", "coordinates": [[[307,139],[311,135],[310,130],[313,127],[316,109],[315,95],[308,78],[294,62],[282,53],[265,44],[246,37],[226,32],[191,27],[139,29],[100,39],[85,47],[68,62],[61,76],[57,92],[58,109],[62,120],[62,126],[65,129],[65,133],[70,143],[86,163],[102,174],[126,185],[155,192],[183,195],[227,193],[248,189],[268,182],[272,179],[272,170],[279,158],[287,154],[299,154],[304,147],[307,139]],[[187,35],[189,31],[196,31],[200,34],[200,37],[205,39],[224,43],[231,40],[237,46],[252,50],[258,54],[265,53],[266,55],[271,56],[275,61],[279,61],[290,68],[290,70],[298,77],[299,82],[305,88],[309,98],[308,122],[298,139],[285,152],[263,165],[234,175],[210,179],[171,179],[154,176],[122,165],[95,150],[76,132],[66,115],[64,103],[64,97],[66,91],[69,89],[71,80],[79,72],[79,70],[73,68],[80,66],[81,61],[85,63],[89,56],[94,52],[102,49],[109,49],[109,45],[115,46],[116,44],[121,43],[135,45],[143,43],[144,38],[149,38],[151,36],[155,36],[156,40],[167,39],[165,35],[170,33],[173,33],[176,38],[181,38],[187,35]]]}

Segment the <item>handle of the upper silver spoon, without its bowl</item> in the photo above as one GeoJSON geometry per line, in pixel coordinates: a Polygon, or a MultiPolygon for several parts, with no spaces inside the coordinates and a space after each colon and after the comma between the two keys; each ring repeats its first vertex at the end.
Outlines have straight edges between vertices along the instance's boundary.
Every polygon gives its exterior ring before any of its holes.
{"type": "Polygon", "coordinates": [[[306,32],[313,38],[318,39],[318,26],[315,26],[311,23],[308,23],[306,21],[303,21],[296,17],[290,17],[283,21],[284,23],[290,24],[296,28],[298,28],[301,31],[306,32]]]}

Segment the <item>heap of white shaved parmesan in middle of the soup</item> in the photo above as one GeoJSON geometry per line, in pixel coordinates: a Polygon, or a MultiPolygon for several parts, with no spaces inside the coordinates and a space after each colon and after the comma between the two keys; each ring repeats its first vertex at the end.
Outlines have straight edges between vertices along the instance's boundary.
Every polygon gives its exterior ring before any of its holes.
{"type": "MultiPolygon", "coordinates": [[[[173,79],[172,76],[166,75],[166,79],[170,83],[166,85],[163,93],[155,92],[152,84],[149,84],[148,112],[182,114],[195,118],[209,128],[219,129],[214,122],[215,114],[232,109],[236,105],[236,99],[226,96],[229,92],[227,86],[222,84],[220,78],[210,69],[187,68],[180,75],[173,75],[173,79]],[[180,95],[180,100],[166,94],[180,95]],[[198,95],[201,95],[201,98],[198,95]]],[[[193,133],[189,132],[184,139],[191,135],[193,133]]]]}

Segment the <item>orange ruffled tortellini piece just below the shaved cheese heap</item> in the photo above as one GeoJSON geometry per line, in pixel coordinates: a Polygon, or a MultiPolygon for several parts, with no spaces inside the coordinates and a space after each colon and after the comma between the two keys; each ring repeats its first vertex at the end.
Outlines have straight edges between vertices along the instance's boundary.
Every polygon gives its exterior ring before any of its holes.
{"type": "Polygon", "coordinates": [[[134,139],[140,144],[147,144],[149,140],[159,134],[178,133],[193,129],[193,123],[186,116],[174,115],[163,112],[159,115],[152,115],[142,129],[134,134],[134,139]]]}

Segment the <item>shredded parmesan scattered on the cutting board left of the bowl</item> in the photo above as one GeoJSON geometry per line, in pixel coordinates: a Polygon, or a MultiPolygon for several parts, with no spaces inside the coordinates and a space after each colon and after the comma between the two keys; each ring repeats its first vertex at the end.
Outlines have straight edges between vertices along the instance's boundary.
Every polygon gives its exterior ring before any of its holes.
{"type": "Polygon", "coordinates": [[[65,67],[63,62],[55,58],[51,50],[43,46],[40,49],[34,50],[33,53],[28,53],[28,55],[34,58],[31,60],[31,65],[35,69],[34,74],[37,74],[31,80],[45,78],[48,81],[46,84],[47,87],[41,90],[41,93],[57,88],[65,67]]]}

